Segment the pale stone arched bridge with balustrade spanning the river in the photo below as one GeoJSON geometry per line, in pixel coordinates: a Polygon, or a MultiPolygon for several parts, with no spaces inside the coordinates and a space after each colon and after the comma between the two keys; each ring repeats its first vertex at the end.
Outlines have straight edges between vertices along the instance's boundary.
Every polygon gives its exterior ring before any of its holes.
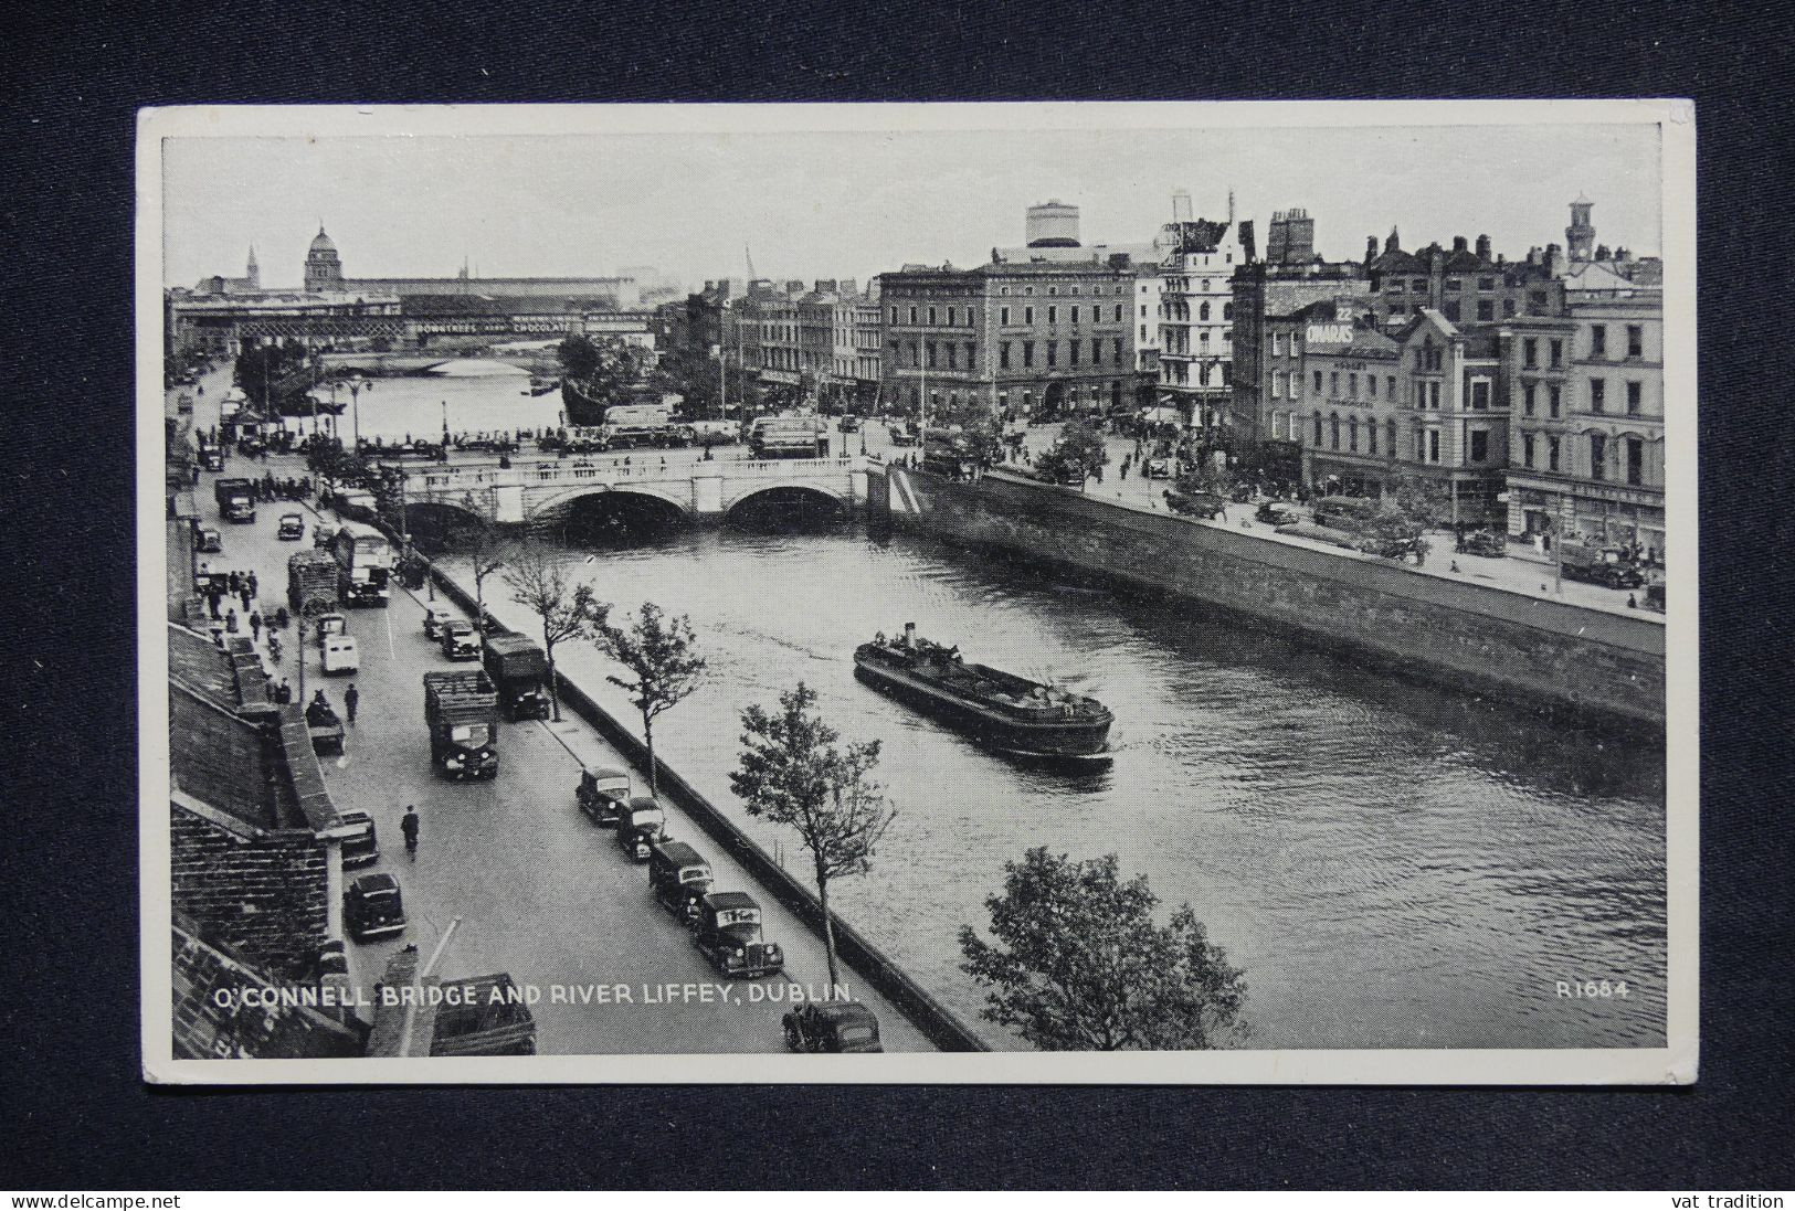
{"type": "MultiPolygon", "coordinates": [[[[736,506],[766,493],[817,495],[849,511],[867,502],[867,457],[700,461],[679,457],[661,466],[661,456],[643,450],[625,463],[603,454],[569,459],[452,463],[400,466],[407,508],[438,506],[479,511],[504,524],[547,522],[565,517],[587,497],[628,497],[630,504],[659,502],[689,522],[718,522],[736,506]]],[[[623,504],[625,501],[619,501],[623,504]]]]}

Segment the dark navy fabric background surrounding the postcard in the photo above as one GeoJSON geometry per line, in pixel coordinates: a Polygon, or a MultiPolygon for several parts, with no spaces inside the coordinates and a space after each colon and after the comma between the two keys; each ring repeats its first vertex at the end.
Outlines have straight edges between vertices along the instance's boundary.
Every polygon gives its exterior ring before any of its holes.
{"type": "Polygon", "coordinates": [[[0,18],[9,56],[0,77],[9,501],[0,522],[9,553],[0,576],[9,929],[0,947],[9,969],[0,1184],[1795,1186],[1786,1084],[1795,456],[1781,9],[20,7],[0,18]],[[140,1084],[136,106],[1265,95],[1698,102],[1705,804],[1696,1087],[181,1093],[140,1084]]]}

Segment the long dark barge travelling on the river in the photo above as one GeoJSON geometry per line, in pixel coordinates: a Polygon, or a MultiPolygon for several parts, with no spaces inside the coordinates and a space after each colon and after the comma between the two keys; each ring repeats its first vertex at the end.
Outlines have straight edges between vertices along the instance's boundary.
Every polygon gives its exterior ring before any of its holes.
{"type": "Polygon", "coordinates": [[[1108,755],[1109,707],[985,664],[966,664],[959,648],[915,637],[876,639],[854,649],[854,676],[980,745],[1048,759],[1108,755]]]}

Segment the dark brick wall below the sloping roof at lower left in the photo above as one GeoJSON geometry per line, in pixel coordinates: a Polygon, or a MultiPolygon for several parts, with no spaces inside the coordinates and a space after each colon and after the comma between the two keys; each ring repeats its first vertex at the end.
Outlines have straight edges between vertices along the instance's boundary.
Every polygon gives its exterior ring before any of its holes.
{"type": "Polygon", "coordinates": [[[226,827],[171,806],[172,902],[271,976],[312,972],[328,937],[328,850],[303,829],[226,827]]]}

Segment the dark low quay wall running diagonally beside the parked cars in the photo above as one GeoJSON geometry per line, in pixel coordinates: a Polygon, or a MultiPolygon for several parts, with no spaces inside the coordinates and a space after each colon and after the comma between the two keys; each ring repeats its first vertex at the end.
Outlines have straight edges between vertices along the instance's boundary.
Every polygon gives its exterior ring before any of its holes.
{"type": "MultiPolygon", "coordinates": [[[[436,587],[454,601],[468,617],[476,615],[474,596],[461,588],[454,579],[443,574],[440,569],[431,569],[431,578],[436,587]]],[[[573,710],[576,716],[592,725],[600,736],[610,741],[617,752],[621,752],[630,764],[637,770],[648,770],[648,746],[635,737],[635,734],[623,725],[616,716],[605,710],[598,701],[580,687],[565,673],[555,673],[556,687],[560,689],[562,707],[573,710]]],[[[797,915],[799,920],[810,928],[819,938],[822,938],[822,904],[817,901],[815,892],[799,883],[784,867],[781,867],[774,858],[754,843],[741,829],[734,825],[698,788],[687,782],[677,770],[671,770],[666,761],[655,762],[659,768],[659,786],[661,797],[680,807],[687,816],[691,816],[705,834],[722,845],[743,868],[754,877],[761,888],[766,890],[775,901],[784,904],[797,915]]],[[[835,915],[835,953],[836,956],[854,972],[860,974],[869,985],[878,989],[892,1005],[896,1005],[905,1017],[908,1017],[917,1030],[921,1030],[930,1042],[933,1042],[942,1051],[987,1051],[989,1048],[978,1035],[971,1032],[951,1010],[941,1005],[933,996],[928,994],[923,985],[919,985],[906,971],[903,971],[890,956],[880,951],[872,942],[869,942],[858,929],[835,915]]]]}

